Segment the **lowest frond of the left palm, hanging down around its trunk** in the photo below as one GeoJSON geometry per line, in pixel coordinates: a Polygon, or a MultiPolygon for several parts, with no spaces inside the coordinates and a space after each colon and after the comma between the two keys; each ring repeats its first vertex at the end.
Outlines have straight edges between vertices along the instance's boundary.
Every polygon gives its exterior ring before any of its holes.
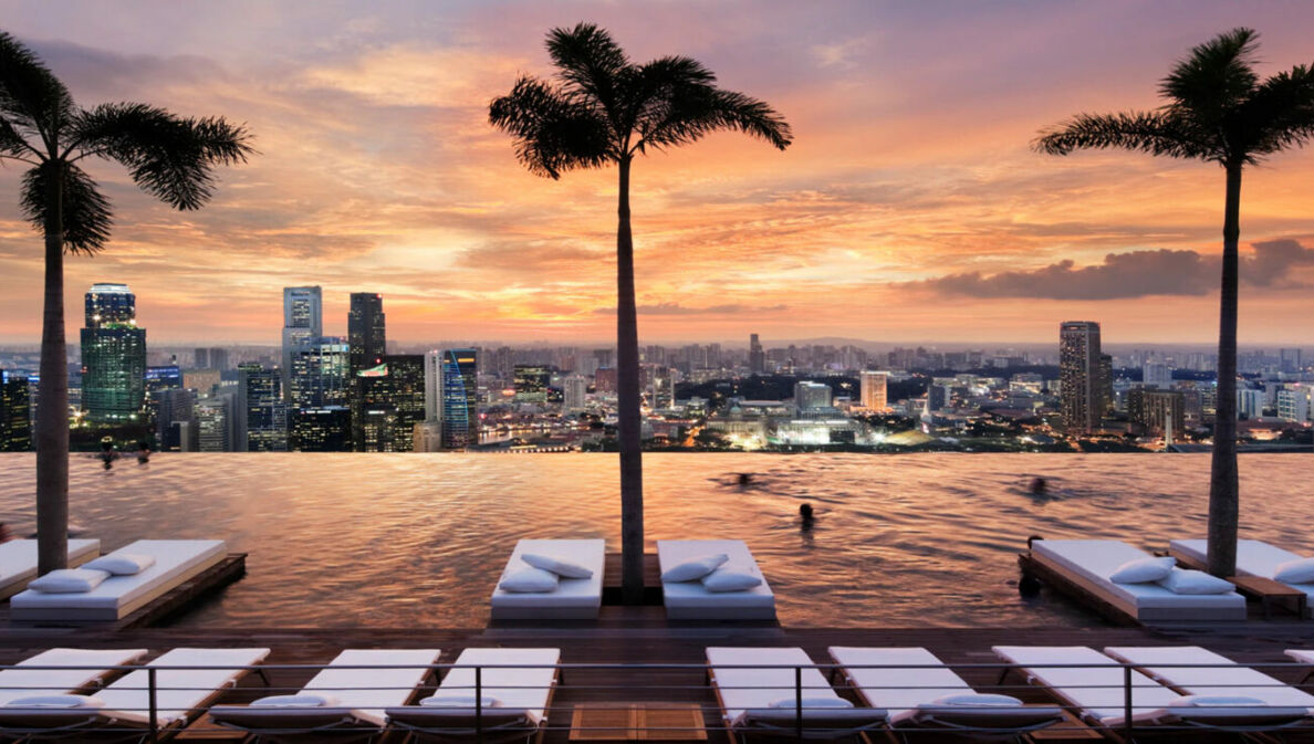
{"type": "Polygon", "coordinates": [[[96,181],[78,166],[47,160],[22,176],[22,213],[37,230],[45,230],[50,179],[63,174],[60,212],[64,221],[64,248],[75,254],[95,254],[109,241],[113,225],[109,200],[96,181]]]}

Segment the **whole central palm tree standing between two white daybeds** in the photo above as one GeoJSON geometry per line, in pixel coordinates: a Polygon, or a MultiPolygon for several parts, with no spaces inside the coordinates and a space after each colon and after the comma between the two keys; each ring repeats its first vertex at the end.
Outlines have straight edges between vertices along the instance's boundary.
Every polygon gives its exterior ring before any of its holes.
{"type": "Polygon", "coordinates": [[[561,177],[615,164],[620,175],[616,227],[616,375],[620,438],[623,595],[643,597],[644,501],[639,417],[639,325],[635,243],[629,233],[629,170],[636,155],[664,151],[719,129],[742,131],[784,150],[790,126],[767,104],[715,85],[695,59],[662,57],[633,64],[611,34],[593,24],[548,33],[556,83],[522,76],[489,105],[489,122],[515,138],[530,172],[561,177]]]}

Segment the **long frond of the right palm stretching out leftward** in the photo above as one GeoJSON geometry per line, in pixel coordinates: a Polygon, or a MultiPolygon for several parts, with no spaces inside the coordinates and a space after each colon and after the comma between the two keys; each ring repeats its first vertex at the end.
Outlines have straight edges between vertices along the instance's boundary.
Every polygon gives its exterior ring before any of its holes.
{"type": "Polygon", "coordinates": [[[1137,150],[1151,155],[1217,160],[1226,142],[1217,133],[1200,131],[1172,112],[1083,113],[1042,131],[1031,143],[1041,152],[1068,155],[1075,150],[1137,150]]]}

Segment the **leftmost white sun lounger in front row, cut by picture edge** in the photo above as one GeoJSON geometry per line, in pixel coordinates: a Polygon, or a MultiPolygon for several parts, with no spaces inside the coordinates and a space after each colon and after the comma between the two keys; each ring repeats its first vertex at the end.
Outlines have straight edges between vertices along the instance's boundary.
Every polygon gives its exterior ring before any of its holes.
{"type": "Polygon", "coordinates": [[[24,659],[12,669],[0,670],[0,706],[37,695],[63,695],[84,691],[118,674],[113,666],[133,664],[146,656],[145,648],[88,649],[51,648],[24,659]],[[33,669],[63,666],[63,669],[33,669]]]}

